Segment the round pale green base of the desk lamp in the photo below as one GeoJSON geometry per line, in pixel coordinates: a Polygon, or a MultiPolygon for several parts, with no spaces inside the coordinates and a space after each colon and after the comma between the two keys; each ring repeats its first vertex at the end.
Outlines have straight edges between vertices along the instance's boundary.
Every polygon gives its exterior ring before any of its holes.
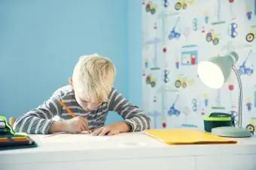
{"type": "Polygon", "coordinates": [[[251,131],[240,127],[215,127],[212,128],[212,135],[229,138],[248,138],[251,137],[251,131]]]}

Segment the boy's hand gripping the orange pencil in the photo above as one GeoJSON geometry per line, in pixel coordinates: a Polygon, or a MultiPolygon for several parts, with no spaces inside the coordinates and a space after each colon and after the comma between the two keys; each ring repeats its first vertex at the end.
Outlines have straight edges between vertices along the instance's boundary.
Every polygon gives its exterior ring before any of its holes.
{"type": "Polygon", "coordinates": [[[63,121],[63,123],[63,130],[66,133],[86,133],[88,130],[88,121],[81,116],[63,121]]]}

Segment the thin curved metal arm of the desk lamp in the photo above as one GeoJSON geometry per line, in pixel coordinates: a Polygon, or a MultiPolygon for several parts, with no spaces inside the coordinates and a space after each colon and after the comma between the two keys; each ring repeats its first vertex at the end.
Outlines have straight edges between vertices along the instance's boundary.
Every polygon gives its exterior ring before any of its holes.
{"type": "Polygon", "coordinates": [[[241,78],[239,76],[239,73],[238,73],[235,65],[232,65],[232,70],[235,72],[236,79],[237,79],[237,82],[238,82],[239,96],[238,96],[238,113],[237,113],[237,116],[238,116],[238,127],[242,128],[242,81],[241,81],[241,78]]]}

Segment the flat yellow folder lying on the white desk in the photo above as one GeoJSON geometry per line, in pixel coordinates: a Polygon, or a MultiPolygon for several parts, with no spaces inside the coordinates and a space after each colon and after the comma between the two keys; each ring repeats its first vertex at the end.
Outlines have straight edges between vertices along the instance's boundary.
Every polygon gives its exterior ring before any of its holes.
{"type": "Polygon", "coordinates": [[[145,130],[145,133],[169,145],[236,144],[233,139],[213,136],[195,129],[145,130]]]}

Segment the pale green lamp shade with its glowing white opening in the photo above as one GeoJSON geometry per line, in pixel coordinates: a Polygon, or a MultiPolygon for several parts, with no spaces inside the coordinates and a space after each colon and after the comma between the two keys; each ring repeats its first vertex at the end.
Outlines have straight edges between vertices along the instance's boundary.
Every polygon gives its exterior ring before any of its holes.
{"type": "Polygon", "coordinates": [[[198,76],[209,88],[221,88],[230,76],[232,65],[238,59],[236,52],[230,52],[201,61],[197,67],[198,76]]]}

